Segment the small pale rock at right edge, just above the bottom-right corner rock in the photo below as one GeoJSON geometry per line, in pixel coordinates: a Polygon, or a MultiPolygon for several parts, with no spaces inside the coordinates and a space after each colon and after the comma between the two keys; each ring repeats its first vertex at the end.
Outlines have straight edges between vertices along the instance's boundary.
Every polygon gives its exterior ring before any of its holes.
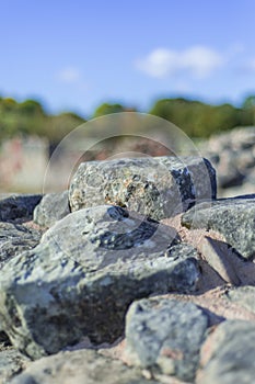
{"type": "Polygon", "coordinates": [[[225,296],[233,303],[255,313],[255,286],[246,285],[231,289],[225,296]]]}

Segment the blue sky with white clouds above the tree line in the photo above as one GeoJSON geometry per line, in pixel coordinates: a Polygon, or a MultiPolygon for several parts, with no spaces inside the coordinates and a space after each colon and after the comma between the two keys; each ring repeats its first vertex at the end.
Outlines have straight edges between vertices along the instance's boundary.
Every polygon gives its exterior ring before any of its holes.
{"type": "Polygon", "coordinates": [[[254,0],[0,0],[0,95],[90,116],[255,93],[254,0]]]}

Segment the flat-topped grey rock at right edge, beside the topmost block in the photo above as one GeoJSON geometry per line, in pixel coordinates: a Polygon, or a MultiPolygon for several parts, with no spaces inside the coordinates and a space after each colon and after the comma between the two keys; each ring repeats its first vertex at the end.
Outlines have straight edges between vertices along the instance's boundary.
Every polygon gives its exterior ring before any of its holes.
{"type": "Polygon", "coordinates": [[[220,233],[244,259],[255,257],[255,199],[225,199],[201,203],[184,213],[182,224],[220,233]]]}

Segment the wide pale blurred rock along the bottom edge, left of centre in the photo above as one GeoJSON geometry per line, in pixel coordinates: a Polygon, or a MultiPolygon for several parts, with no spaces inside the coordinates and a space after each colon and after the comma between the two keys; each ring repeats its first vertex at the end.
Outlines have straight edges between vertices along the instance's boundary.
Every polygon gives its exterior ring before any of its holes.
{"type": "Polygon", "coordinates": [[[93,350],[60,352],[33,362],[11,384],[157,384],[136,369],[93,350]]]}

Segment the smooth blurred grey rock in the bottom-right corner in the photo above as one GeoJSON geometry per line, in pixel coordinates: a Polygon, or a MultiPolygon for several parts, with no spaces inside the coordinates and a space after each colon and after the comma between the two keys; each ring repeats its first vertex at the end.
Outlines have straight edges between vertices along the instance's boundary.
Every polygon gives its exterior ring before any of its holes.
{"type": "Polygon", "coordinates": [[[255,377],[255,324],[220,324],[202,347],[202,370],[197,384],[253,383],[255,377]],[[205,359],[206,357],[206,359],[205,359]]]}

